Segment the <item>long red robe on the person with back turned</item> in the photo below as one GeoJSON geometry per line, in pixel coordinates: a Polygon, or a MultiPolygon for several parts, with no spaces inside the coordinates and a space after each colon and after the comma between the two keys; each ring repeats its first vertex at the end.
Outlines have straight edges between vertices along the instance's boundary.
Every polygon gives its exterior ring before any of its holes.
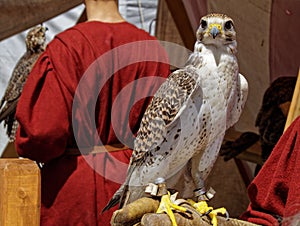
{"type": "Polygon", "coordinates": [[[127,22],[86,22],[57,35],[35,64],[17,107],[16,148],[45,163],[41,225],[109,225],[116,208],[100,213],[125,179],[131,150],[74,156],[66,149],[132,147],[149,96],[169,74],[154,40],[127,22]]]}

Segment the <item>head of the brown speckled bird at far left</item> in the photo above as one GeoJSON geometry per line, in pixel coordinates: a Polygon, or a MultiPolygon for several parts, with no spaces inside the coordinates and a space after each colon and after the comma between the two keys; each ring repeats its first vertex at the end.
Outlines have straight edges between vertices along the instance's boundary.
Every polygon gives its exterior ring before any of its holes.
{"type": "Polygon", "coordinates": [[[42,52],[46,48],[46,31],[48,29],[42,25],[37,25],[27,33],[25,42],[27,50],[31,52],[42,52]]]}

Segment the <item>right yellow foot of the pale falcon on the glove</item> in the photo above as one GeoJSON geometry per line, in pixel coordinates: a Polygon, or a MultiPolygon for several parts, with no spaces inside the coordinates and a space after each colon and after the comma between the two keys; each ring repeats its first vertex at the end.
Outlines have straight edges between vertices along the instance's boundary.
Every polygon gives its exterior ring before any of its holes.
{"type": "Polygon", "coordinates": [[[213,226],[218,225],[217,215],[220,214],[226,214],[226,217],[228,218],[227,210],[224,207],[213,209],[211,206],[207,205],[206,201],[200,201],[195,202],[193,200],[188,200],[188,202],[197,210],[198,213],[201,215],[208,215],[211,219],[211,223],[213,226]]]}

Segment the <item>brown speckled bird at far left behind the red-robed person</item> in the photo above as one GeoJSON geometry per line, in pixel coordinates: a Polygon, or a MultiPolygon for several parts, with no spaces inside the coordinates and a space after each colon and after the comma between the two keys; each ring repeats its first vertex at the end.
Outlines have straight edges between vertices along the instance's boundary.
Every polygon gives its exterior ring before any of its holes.
{"type": "Polygon", "coordinates": [[[25,39],[26,52],[17,62],[0,102],[0,122],[4,120],[10,142],[15,140],[18,127],[15,119],[17,103],[28,74],[40,54],[45,50],[46,30],[44,26],[38,25],[28,31],[25,39]]]}

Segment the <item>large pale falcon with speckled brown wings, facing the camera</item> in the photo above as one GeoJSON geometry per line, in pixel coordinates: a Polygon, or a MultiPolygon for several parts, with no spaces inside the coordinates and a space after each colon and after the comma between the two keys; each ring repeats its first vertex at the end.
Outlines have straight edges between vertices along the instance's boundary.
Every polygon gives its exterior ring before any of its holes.
{"type": "Polygon", "coordinates": [[[194,52],[171,73],[148,106],[125,183],[105,208],[121,197],[132,202],[157,178],[172,188],[176,175],[189,168],[198,200],[218,157],[225,130],[236,123],[247,98],[248,83],[238,72],[233,20],[209,14],[200,21],[194,52]],[[126,197],[125,197],[126,196],[126,197]]]}

